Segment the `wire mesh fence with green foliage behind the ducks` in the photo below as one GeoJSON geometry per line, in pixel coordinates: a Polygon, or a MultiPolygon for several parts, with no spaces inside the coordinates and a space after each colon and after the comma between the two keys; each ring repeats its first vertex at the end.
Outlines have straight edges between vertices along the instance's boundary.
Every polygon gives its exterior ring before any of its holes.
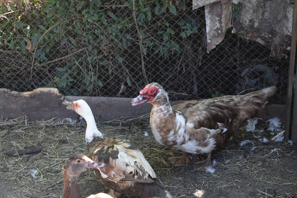
{"type": "Polygon", "coordinates": [[[260,0],[274,23],[247,28],[241,18],[259,15],[248,7],[258,6],[251,0],[194,1],[2,0],[0,88],[134,97],[159,82],[180,100],[277,85],[273,102],[285,103],[293,3],[260,0]],[[210,24],[223,20],[211,17],[209,6],[194,8],[197,3],[216,3],[212,10],[219,5],[229,16],[231,27],[211,50],[210,24]]]}

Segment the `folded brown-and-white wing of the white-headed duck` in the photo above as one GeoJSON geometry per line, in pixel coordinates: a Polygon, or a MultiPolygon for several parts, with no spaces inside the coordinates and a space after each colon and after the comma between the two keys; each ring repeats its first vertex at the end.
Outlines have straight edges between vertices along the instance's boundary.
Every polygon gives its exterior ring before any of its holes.
{"type": "Polygon", "coordinates": [[[95,138],[87,145],[88,155],[100,168],[102,178],[114,182],[150,183],[156,174],[143,153],[131,142],[121,139],[95,138]]]}

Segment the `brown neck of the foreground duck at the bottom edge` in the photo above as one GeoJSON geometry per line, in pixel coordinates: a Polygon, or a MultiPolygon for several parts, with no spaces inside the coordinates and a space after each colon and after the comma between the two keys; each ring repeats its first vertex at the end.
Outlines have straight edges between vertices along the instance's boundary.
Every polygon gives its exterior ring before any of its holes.
{"type": "Polygon", "coordinates": [[[64,172],[64,188],[62,193],[62,198],[81,198],[82,195],[78,188],[77,176],[71,177],[64,172]]]}

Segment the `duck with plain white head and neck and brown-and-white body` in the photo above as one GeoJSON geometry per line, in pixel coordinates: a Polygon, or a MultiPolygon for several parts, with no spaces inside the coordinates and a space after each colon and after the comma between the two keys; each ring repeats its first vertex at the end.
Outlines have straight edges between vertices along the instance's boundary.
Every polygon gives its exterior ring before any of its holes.
{"type": "MultiPolygon", "coordinates": [[[[142,198],[171,198],[143,153],[131,142],[106,139],[99,132],[90,106],[77,100],[68,109],[75,110],[87,121],[87,153],[105,166],[95,170],[103,185],[115,192],[142,198]]],[[[113,195],[115,196],[115,195],[113,195]]]]}

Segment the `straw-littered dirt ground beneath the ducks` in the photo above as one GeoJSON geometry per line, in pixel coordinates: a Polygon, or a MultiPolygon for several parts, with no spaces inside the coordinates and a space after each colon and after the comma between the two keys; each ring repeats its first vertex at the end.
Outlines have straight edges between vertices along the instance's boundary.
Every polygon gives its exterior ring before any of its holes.
{"type": "MultiPolygon", "coordinates": [[[[174,198],[293,198],[297,197],[297,144],[267,144],[241,129],[231,144],[213,152],[213,174],[189,166],[173,168],[167,158],[181,152],[159,145],[153,138],[148,117],[132,122],[98,124],[107,138],[129,139],[145,154],[156,174],[174,198]],[[145,136],[148,132],[148,137],[145,136]],[[241,147],[240,142],[251,140],[241,147]]],[[[265,127],[265,126],[264,126],[265,127]]],[[[63,189],[62,163],[75,153],[85,153],[86,123],[66,120],[27,122],[25,117],[0,120],[0,197],[59,198],[63,189]],[[41,145],[36,154],[18,155],[20,150],[41,145]],[[15,156],[3,154],[12,151],[15,156]],[[35,175],[34,170],[37,170],[35,175]]],[[[259,135],[259,134],[257,134],[259,135]]],[[[267,139],[268,132],[260,134],[267,139]]],[[[201,158],[200,158],[201,159],[201,158]]],[[[83,197],[107,192],[92,171],[79,176],[83,197]]],[[[122,196],[127,198],[127,196],[122,196]]],[[[135,197],[134,197],[135,198],[135,197]]]]}

